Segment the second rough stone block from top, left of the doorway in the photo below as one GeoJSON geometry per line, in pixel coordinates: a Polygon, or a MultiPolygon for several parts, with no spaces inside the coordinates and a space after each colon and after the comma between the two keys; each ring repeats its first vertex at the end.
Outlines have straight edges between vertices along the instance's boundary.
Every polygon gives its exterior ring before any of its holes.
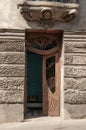
{"type": "Polygon", "coordinates": [[[25,53],[24,52],[1,52],[0,64],[24,64],[25,53]]]}

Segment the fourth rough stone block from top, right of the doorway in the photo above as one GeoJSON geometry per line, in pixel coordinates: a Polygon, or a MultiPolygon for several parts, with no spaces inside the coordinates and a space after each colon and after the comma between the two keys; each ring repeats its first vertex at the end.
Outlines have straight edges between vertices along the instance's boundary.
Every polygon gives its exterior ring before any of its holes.
{"type": "Polygon", "coordinates": [[[65,78],[64,89],[86,91],[86,78],[65,78]]]}

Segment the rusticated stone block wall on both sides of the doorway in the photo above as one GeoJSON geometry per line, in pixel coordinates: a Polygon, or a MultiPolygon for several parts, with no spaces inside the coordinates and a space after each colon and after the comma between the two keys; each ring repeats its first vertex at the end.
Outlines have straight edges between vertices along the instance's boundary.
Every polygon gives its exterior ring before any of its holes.
{"type": "MultiPolygon", "coordinates": [[[[86,118],[86,32],[64,32],[65,118],[86,118]]],[[[0,122],[24,119],[25,32],[0,30],[0,122]]]]}

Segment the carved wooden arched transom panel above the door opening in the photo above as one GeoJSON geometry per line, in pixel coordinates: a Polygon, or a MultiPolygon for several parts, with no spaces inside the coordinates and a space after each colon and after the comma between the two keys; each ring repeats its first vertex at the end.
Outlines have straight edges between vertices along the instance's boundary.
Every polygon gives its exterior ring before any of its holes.
{"type": "Polygon", "coordinates": [[[60,33],[57,35],[46,33],[29,33],[26,35],[26,46],[29,51],[40,55],[49,55],[58,52],[60,49],[60,43],[62,36],[60,33]]]}

